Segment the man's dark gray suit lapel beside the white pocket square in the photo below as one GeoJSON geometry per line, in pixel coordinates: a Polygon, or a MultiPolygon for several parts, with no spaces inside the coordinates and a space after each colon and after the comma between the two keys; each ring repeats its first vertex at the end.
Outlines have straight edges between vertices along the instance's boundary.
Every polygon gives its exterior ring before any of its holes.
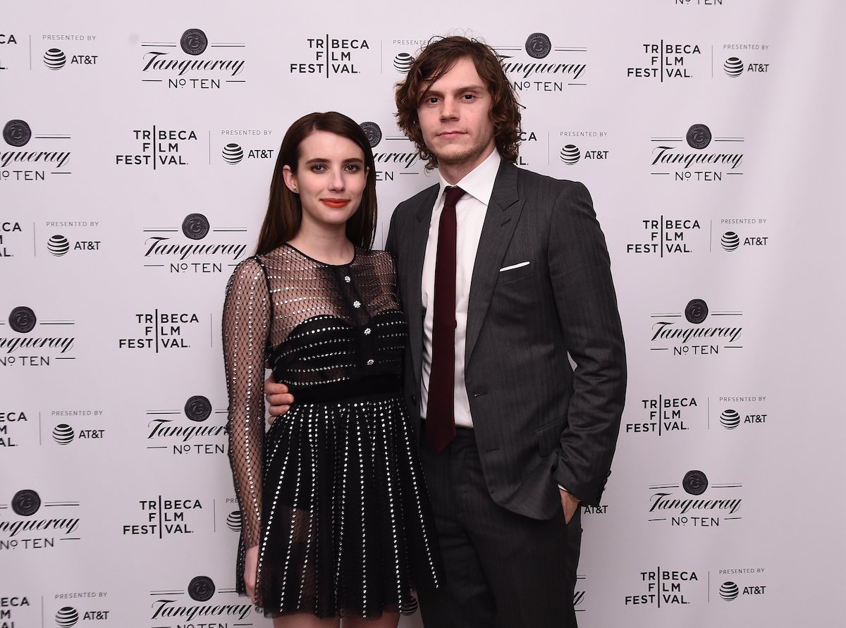
{"type": "Polygon", "coordinates": [[[493,185],[491,202],[487,207],[485,222],[481,228],[479,249],[473,264],[473,278],[470,282],[470,298],[467,306],[467,337],[464,342],[464,368],[470,364],[476,340],[479,339],[482,322],[491,303],[494,286],[499,278],[505,251],[519,222],[524,201],[517,192],[518,168],[503,162],[499,165],[497,179],[493,185]]]}

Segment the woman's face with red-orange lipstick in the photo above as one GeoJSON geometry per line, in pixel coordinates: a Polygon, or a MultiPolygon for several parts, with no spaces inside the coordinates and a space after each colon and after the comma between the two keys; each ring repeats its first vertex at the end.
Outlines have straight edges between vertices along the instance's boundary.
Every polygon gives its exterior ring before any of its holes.
{"type": "Polygon", "coordinates": [[[361,205],[367,185],[365,153],[353,140],[314,131],[299,144],[297,172],[283,168],[285,185],[299,194],[303,226],[344,227],[361,205]]]}

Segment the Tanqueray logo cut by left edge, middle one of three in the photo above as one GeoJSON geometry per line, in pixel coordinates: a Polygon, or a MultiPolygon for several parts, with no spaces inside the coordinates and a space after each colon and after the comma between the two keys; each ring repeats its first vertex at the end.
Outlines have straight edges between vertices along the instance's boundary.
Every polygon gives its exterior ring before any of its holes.
{"type": "Polygon", "coordinates": [[[51,366],[58,361],[75,360],[71,355],[74,337],[38,333],[41,328],[72,325],[73,321],[39,321],[32,308],[14,307],[6,321],[0,320],[0,366],[51,366]],[[33,332],[36,333],[30,336],[33,332]]]}

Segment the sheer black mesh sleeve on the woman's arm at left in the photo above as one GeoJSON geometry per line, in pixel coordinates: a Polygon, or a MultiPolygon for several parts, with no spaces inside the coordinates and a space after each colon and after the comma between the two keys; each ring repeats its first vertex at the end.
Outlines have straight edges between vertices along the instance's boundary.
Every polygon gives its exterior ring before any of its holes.
{"type": "Polygon", "coordinates": [[[264,372],[270,299],[255,259],[229,279],[223,305],[223,361],[229,393],[229,462],[241,509],[244,545],[261,536],[261,457],[264,440],[264,372]]]}

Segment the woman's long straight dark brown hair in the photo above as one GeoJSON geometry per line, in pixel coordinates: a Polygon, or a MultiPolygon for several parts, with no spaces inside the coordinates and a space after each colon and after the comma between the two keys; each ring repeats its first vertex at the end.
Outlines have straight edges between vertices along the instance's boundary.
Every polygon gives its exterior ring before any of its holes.
{"type": "Polygon", "coordinates": [[[315,131],[328,131],[352,140],[365,153],[365,167],[367,183],[361,195],[361,204],[347,221],[347,237],[356,246],[371,248],[376,235],[376,164],[373,162],[373,150],[367,135],[352,118],[343,113],[328,111],[327,113],[309,113],[291,124],[279,154],[273,178],[270,182],[270,201],[267,203],[267,213],[261,225],[258,245],[255,254],[263,255],[291,240],[299,231],[303,220],[303,206],[299,202],[299,194],[288,190],[283,178],[283,168],[288,166],[291,172],[297,174],[299,165],[299,145],[306,137],[315,131]]]}

